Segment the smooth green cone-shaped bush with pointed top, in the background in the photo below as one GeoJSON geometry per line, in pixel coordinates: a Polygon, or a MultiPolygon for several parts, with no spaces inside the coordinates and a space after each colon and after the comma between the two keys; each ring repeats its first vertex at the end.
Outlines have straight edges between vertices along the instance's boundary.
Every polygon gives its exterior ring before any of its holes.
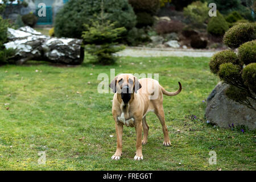
{"type": "Polygon", "coordinates": [[[222,36],[229,29],[225,18],[217,11],[217,16],[210,18],[207,31],[214,36],[222,36]]]}

